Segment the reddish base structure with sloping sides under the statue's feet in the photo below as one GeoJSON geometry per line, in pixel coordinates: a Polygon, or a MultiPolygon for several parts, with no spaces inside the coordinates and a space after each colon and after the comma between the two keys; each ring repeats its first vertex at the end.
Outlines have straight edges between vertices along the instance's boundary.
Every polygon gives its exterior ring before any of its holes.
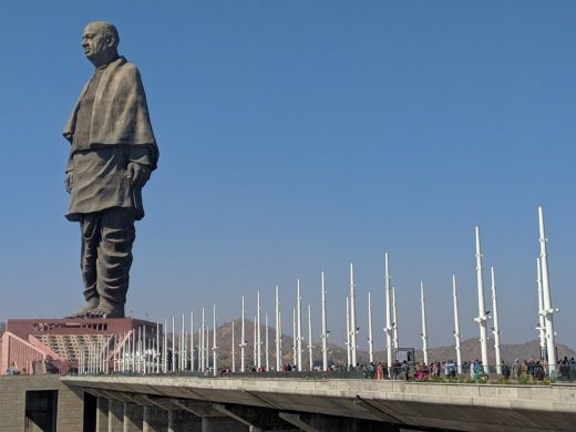
{"type": "Polygon", "coordinates": [[[133,319],[9,319],[0,373],[138,371],[158,361],[162,326],[133,319]]]}

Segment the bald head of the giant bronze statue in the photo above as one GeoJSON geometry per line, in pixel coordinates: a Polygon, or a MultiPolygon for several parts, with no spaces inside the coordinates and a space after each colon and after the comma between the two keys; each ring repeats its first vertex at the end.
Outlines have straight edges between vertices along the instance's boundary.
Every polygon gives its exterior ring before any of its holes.
{"type": "Polygon", "coordinates": [[[82,34],[84,54],[96,68],[117,58],[119,43],[119,31],[110,22],[91,22],[82,34]]]}

